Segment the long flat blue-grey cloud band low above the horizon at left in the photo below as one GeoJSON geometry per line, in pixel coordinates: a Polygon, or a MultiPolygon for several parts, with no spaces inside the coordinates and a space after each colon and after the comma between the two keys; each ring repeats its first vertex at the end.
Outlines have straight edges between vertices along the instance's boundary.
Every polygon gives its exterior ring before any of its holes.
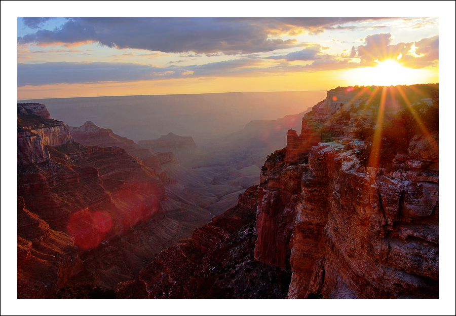
{"type": "Polygon", "coordinates": [[[18,87],[60,83],[132,82],[173,78],[249,76],[266,73],[260,58],[240,58],[204,65],[158,67],[127,62],[18,63],[18,87]]]}

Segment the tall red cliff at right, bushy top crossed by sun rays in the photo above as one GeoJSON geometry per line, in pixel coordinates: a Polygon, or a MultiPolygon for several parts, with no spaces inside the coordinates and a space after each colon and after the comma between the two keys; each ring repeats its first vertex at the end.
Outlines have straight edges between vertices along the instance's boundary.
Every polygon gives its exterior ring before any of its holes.
{"type": "Polygon", "coordinates": [[[435,95],[331,90],[268,156],[254,254],[291,266],[288,298],[438,298],[435,95]]]}

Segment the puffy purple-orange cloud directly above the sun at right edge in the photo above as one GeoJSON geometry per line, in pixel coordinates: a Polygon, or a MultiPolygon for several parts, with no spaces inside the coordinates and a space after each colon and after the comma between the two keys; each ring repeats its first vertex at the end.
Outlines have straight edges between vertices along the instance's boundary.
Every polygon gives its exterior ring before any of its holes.
{"type": "MultiPolygon", "coordinates": [[[[409,68],[423,68],[437,64],[439,59],[438,36],[396,45],[391,44],[392,40],[391,33],[368,35],[364,39],[365,45],[357,47],[357,57],[361,59],[361,63],[366,65],[375,65],[375,60],[388,59],[397,60],[409,68]],[[397,59],[399,54],[401,54],[401,58],[397,59]]],[[[350,56],[355,57],[352,55],[353,48],[350,56]]]]}

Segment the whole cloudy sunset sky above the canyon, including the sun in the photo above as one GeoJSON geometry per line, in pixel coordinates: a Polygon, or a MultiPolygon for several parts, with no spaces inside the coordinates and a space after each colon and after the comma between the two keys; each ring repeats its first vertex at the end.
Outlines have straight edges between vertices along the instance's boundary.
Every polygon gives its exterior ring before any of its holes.
{"type": "Polygon", "coordinates": [[[437,83],[439,18],[17,17],[17,74],[18,99],[437,83]]]}

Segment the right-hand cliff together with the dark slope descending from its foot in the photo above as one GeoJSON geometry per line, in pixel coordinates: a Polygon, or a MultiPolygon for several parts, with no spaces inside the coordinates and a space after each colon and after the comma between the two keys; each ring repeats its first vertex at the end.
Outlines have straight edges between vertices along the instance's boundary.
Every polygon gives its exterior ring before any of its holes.
{"type": "Polygon", "coordinates": [[[288,298],[435,299],[438,213],[438,85],[338,87],[267,157],[258,187],[117,297],[271,298],[291,270],[288,298]]]}

